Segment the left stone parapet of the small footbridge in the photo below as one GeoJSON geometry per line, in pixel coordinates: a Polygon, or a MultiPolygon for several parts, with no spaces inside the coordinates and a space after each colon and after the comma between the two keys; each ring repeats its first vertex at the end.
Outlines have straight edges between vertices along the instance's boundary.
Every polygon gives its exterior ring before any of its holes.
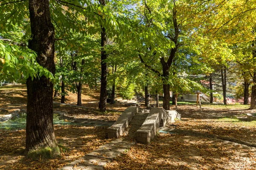
{"type": "Polygon", "coordinates": [[[144,110],[137,106],[131,106],[125,109],[116,122],[111,127],[108,127],[108,138],[118,138],[122,135],[125,129],[127,129],[135,113],[138,112],[144,112],[144,110]]]}

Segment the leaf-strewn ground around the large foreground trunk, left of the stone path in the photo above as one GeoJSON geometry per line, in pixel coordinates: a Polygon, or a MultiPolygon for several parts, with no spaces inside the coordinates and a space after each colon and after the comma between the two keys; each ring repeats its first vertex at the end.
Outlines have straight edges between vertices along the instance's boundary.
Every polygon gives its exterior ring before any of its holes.
{"type": "Polygon", "coordinates": [[[112,140],[106,139],[107,127],[55,125],[57,142],[64,148],[67,148],[67,151],[63,151],[61,157],[55,159],[38,159],[32,161],[25,159],[23,156],[25,132],[25,130],[0,130],[1,168],[19,170],[27,170],[29,168],[41,168],[42,170],[57,169],[112,140]]]}

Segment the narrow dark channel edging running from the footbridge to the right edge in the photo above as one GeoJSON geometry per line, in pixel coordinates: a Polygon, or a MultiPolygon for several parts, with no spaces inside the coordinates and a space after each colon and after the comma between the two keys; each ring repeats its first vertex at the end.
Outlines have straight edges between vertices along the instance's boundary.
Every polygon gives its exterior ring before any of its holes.
{"type": "Polygon", "coordinates": [[[182,129],[174,129],[174,128],[171,129],[171,128],[167,128],[167,127],[162,127],[160,130],[166,131],[166,132],[171,132],[171,133],[186,134],[186,135],[191,135],[191,136],[202,136],[202,137],[207,137],[207,138],[221,139],[224,141],[235,142],[235,143],[247,145],[250,147],[256,147],[256,144],[254,144],[254,143],[244,142],[239,139],[230,138],[227,136],[212,135],[212,134],[207,134],[207,133],[196,132],[193,130],[182,130],[182,129]]]}

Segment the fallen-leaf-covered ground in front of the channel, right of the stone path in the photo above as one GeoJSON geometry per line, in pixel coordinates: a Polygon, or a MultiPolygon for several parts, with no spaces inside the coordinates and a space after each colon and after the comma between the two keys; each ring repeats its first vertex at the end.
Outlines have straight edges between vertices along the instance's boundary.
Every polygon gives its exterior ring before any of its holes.
{"type": "Polygon", "coordinates": [[[224,143],[195,136],[162,134],[148,145],[137,144],[130,152],[119,156],[106,166],[106,169],[122,169],[129,167],[139,169],[198,169],[213,168],[239,169],[256,166],[253,154],[255,149],[234,146],[232,142],[224,143]],[[250,164],[245,164],[244,160],[250,164]]]}

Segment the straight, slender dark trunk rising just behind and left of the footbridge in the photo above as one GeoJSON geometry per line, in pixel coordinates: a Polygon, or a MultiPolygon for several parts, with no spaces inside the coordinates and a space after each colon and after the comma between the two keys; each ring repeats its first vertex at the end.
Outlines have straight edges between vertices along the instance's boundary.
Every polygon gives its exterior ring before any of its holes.
{"type": "Polygon", "coordinates": [[[102,27],[101,31],[101,85],[100,85],[100,96],[99,96],[99,111],[105,112],[107,105],[107,54],[105,51],[105,45],[107,42],[107,36],[105,28],[102,27]]]}

